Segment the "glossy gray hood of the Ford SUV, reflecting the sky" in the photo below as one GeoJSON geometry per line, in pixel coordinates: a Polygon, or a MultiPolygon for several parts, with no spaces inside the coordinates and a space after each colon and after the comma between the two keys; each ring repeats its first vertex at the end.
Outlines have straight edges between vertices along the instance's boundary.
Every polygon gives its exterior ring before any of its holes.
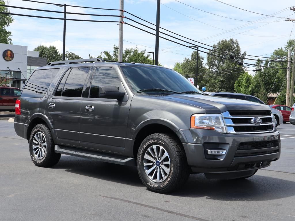
{"type": "Polygon", "coordinates": [[[267,105],[235,98],[221,98],[208,95],[173,94],[159,96],[164,100],[187,103],[202,108],[206,113],[223,113],[228,110],[270,110],[267,105]]]}

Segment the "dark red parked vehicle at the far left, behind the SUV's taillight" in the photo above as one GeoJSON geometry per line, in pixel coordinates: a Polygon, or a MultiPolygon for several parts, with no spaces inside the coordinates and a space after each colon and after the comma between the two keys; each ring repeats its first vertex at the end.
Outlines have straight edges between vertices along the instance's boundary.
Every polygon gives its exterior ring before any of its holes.
{"type": "Polygon", "coordinates": [[[0,87],[0,110],[14,110],[20,93],[19,88],[0,87]]]}

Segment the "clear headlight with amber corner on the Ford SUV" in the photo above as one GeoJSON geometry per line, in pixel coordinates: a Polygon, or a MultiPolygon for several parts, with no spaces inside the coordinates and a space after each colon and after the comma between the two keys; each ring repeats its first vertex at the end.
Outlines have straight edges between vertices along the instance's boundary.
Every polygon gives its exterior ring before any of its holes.
{"type": "Polygon", "coordinates": [[[226,133],[221,114],[194,114],[191,116],[191,128],[215,130],[226,133]]]}

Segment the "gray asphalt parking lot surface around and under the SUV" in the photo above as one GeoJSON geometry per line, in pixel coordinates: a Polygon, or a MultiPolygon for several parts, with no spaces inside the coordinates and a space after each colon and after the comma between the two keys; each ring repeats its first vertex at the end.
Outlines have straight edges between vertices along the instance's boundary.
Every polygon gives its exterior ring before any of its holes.
{"type": "Polygon", "coordinates": [[[295,220],[295,126],[278,127],[281,158],[246,180],[192,174],[173,194],[148,191],[137,169],[62,155],[35,166],[27,141],[0,120],[0,220],[295,220]]]}

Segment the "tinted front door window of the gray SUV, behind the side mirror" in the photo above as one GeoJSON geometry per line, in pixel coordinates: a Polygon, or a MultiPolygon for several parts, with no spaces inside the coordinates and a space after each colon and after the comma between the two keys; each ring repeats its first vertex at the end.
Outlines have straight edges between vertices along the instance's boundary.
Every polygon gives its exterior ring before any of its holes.
{"type": "Polygon", "coordinates": [[[96,67],[91,82],[90,98],[98,98],[99,86],[116,86],[119,89],[120,79],[111,67],[96,67]]]}

